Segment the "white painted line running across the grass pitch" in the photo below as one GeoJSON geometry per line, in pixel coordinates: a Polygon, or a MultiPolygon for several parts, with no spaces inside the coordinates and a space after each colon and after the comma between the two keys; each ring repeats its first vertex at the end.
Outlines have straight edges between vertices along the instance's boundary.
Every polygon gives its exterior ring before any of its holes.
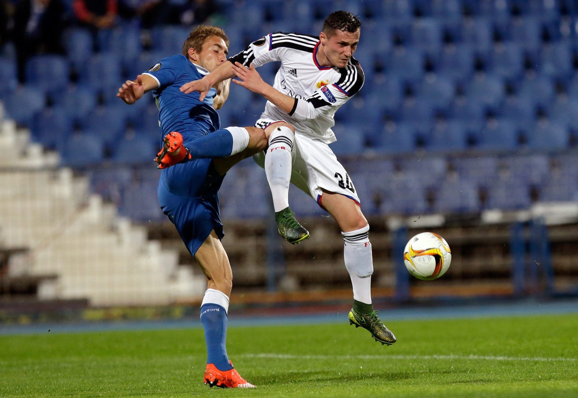
{"type": "Polygon", "coordinates": [[[291,355],[291,354],[243,354],[244,358],[272,358],[272,359],[435,359],[435,360],[506,360],[527,362],[576,362],[578,358],[544,358],[541,356],[517,357],[517,356],[486,356],[486,355],[291,355]]]}

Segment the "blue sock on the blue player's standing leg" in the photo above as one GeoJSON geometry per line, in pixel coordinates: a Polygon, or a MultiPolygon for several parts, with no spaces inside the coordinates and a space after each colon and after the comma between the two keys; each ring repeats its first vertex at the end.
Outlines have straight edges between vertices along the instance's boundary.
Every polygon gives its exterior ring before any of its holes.
{"type": "Polygon", "coordinates": [[[207,303],[201,307],[201,322],[205,329],[207,343],[207,363],[212,363],[218,370],[227,371],[233,367],[227,357],[227,314],[217,304],[207,303]]]}

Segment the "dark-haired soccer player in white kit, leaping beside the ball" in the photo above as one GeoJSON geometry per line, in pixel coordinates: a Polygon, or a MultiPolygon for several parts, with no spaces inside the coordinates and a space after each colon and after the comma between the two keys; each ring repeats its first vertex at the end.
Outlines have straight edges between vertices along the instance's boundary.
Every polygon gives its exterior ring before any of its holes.
{"type": "Polygon", "coordinates": [[[256,126],[280,120],[294,126],[294,135],[273,133],[266,153],[255,155],[255,161],[265,168],[276,218],[288,209],[290,181],[332,215],[342,230],[345,266],[353,284],[349,321],[369,330],[376,341],[390,345],[395,343],[395,336],[377,317],[379,312],[373,310],[371,302],[369,225],[353,181],[328,146],[336,140],[331,130],[335,112],[364,83],[361,65],[353,58],[360,31],[358,17],[336,11],[325,18],[319,36],[269,34],[180,90],[199,91],[202,101],[214,84],[237,76],[240,80],[234,80],[236,84],[268,100],[256,126]],[[255,70],[272,61],[281,61],[273,86],[255,70]]]}

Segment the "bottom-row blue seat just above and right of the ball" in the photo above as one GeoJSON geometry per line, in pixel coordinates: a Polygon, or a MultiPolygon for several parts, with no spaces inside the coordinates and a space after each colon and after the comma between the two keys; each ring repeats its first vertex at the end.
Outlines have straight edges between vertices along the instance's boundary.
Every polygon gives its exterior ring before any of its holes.
{"type": "Polygon", "coordinates": [[[457,176],[446,178],[436,187],[433,209],[441,213],[475,213],[480,210],[477,188],[457,176]]]}

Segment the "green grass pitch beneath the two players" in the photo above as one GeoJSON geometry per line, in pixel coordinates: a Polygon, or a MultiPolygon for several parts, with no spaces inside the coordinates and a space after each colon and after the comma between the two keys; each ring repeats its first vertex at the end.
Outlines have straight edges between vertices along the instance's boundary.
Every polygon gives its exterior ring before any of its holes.
{"type": "Polygon", "coordinates": [[[253,390],[203,385],[202,329],[0,336],[0,396],[578,396],[577,315],[386,324],[391,347],[346,317],[229,328],[253,390]]]}

